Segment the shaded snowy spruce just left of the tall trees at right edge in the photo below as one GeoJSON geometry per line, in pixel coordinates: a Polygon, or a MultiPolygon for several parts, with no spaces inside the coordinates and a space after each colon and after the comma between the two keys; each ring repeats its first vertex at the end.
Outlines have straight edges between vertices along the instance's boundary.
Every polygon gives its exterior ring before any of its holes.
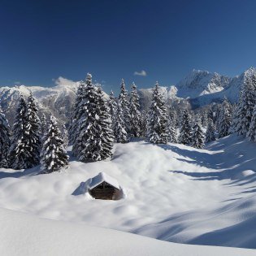
{"type": "Polygon", "coordinates": [[[219,112],[219,121],[218,121],[219,138],[228,136],[228,134],[230,134],[229,128],[231,126],[231,122],[232,122],[232,109],[227,98],[224,98],[221,104],[220,112],[219,112]]]}

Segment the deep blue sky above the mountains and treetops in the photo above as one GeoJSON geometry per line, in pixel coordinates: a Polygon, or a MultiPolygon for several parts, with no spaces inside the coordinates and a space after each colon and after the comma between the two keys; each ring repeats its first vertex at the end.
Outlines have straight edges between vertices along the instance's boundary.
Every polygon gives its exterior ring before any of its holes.
{"type": "Polygon", "coordinates": [[[91,72],[107,91],[122,77],[173,85],[193,68],[235,76],[256,66],[255,10],[254,0],[2,0],[0,85],[91,72]]]}

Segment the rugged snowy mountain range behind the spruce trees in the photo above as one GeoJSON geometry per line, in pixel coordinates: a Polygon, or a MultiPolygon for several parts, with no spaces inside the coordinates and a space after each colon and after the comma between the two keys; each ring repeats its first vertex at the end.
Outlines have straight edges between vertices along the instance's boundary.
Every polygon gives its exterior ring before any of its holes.
{"type": "MultiPolygon", "coordinates": [[[[211,102],[221,102],[225,96],[231,102],[237,102],[245,76],[251,76],[252,74],[256,75],[256,68],[254,67],[250,67],[240,76],[233,78],[221,76],[215,72],[193,70],[177,85],[163,86],[161,89],[163,97],[170,105],[190,104],[192,107],[198,107],[211,102]]],[[[4,86],[0,87],[0,104],[12,124],[20,94],[27,97],[31,91],[37,99],[40,110],[46,111],[46,114],[52,113],[61,123],[65,123],[70,117],[78,85],[79,82],[59,77],[53,87],[4,86]]],[[[115,92],[115,95],[118,93],[115,92]]],[[[139,93],[142,108],[148,109],[152,89],[140,89],[139,93]]]]}

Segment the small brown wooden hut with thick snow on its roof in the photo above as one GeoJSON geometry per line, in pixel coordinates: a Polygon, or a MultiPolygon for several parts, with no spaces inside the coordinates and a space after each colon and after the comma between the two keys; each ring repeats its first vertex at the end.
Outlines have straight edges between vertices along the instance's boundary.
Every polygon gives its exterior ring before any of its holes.
{"type": "Polygon", "coordinates": [[[90,180],[88,191],[95,199],[118,200],[122,195],[117,180],[104,172],[100,172],[90,180]]]}

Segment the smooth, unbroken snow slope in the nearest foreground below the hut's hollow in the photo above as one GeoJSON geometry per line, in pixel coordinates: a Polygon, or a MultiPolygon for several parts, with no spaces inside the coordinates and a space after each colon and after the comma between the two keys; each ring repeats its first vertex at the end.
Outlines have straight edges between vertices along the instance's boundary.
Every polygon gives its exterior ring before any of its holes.
{"type": "Polygon", "coordinates": [[[105,228],[39,219],[0,209],[0,254],[26,255],[167,255],[252,256],[253,250],[178,245],[105,228]]]}

